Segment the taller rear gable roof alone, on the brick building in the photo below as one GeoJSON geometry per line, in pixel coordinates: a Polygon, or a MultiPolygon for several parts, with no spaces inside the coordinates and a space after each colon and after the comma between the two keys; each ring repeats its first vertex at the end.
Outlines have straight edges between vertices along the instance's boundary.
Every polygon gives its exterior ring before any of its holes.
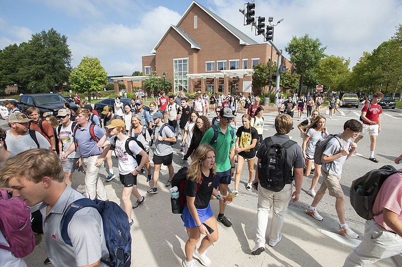
{"type": "Polygon", "coordinates": [[[188,9],[185,11],[185,13],[183,14],[183,16],[181,16],[180,20],[178,21],[178,23],[176,24],[176,26],[180,25],[180,23],[184,20],[184,18],[187,16],[187,14],[190,12],[191,8],[196,5],[198,6],[200,9],[202,9],[203,11],[205,11],[205,13],[207,13],[208,15],[210,15],[215,21],[217,21],[220,25],[222,25],[226,30],[228,30],[233,36],[235,36],[237,39],[239,39],[240,41],[240,45],[258,45],[258,43],[256,41],[254,41],[253,39],[251,39],[250,37],[248,37],[247,35],[245,35],[244,33],[242,33],[240,30],[238,30],[237,28],[235,28],[233,25],[231,25],[230,23],[228,23],[227,21],[225,21],[224,19],[222,19],[221,17],[219,17],[218,15],[216,15],[215,13],[213,13],[212,11],[210,11],[209,9],[207,9],[206,7],[204,7],[201,4],[198,4],[197,2],[193,1],[191,3],[191,5],[188,7],[188,9]]]}

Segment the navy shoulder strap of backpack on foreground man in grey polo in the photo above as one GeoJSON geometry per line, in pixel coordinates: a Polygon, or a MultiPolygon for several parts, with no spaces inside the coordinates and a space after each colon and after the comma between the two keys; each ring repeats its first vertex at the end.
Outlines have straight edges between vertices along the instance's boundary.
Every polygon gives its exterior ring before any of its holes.
{"type": "Polygon", "coordinates": [[[72,246],[72,243],[70,237],[68,236],[68,224],[70,223],[75,212],[84,207],[93,207],[97,210],[97,205],[95,204],[95,202],[93,200],[90,200],[89,198],[84,197],[72,202],[63,213],[63,218],[61,219],[60,223],[61,237],[63,238],[64,242],[70,246],[72,246]]]}

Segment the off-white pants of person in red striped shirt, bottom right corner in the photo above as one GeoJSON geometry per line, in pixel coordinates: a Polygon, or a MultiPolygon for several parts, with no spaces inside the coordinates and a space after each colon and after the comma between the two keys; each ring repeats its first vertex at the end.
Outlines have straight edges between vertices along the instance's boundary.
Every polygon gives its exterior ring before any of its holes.
{"type": "Polygon", "coordinates": [[[366,221],[364,237],[346,258],[343,266],[363,266],[390,257],[395,266],[402,266],[402,237],[385,230],[373,219],[366,221]]]}

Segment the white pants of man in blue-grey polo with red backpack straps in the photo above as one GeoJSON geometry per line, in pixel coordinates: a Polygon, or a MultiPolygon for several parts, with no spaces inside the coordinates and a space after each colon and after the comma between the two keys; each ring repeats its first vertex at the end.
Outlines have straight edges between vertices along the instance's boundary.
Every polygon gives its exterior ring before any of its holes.
{"type": "Polygon", "coordinates": [[[85,168],[85,191],[89,199],[108,199],[105,185],[98,177],[99,167],[95,166],[96,160],[100,155],[81,158],[81,162],[85,168]]]}

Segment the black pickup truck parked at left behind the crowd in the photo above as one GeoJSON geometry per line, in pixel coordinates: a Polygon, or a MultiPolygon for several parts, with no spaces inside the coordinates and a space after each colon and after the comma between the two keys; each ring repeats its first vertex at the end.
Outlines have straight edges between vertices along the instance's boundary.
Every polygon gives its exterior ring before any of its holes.
{"type": "MultiPolygon", "coordinates": [[[[59,109],[64,108],[64,104],[68,103],[59,94],[29,94],[20,96],[20,103],[18,108],[27,113],[27,109],[30,107],[37,107],[40,111],[40,115],[44,118],[47,115],[56,116],[59,109]]],[[[77,106],[73,103],[70,104],[70,109],[77,111],[77,106]]]]}

